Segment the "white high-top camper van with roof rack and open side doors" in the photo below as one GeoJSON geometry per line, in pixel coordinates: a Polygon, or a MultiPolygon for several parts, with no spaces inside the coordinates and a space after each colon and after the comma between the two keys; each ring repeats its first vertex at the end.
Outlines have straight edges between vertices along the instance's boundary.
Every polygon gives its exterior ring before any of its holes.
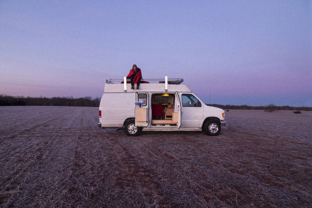
{"type": "Polygon", "coordinates": [[[123,128],[128,136],[137,136],[141,130],[204,131],[216,136],[225,126],[224,110],[207,106],[181,85],[183,79],[166,76],[144,82],[140,89],[131,89],[126,77],[106,80],[98,127],[123,128]]]}

